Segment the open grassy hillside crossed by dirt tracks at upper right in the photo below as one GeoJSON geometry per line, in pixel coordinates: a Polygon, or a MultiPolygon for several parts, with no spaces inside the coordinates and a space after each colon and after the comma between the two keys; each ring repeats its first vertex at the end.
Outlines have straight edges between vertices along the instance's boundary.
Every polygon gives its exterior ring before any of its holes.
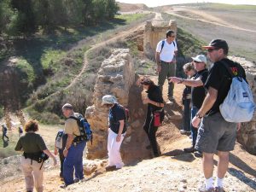
{"type": "Polygon", "coordinates": [[[172,6],[163,10],[165,20],[177,20],[184,31],[210,42],[224,38],[230,45],[230,55],[256,61],[256,6],[195,3],[172,6]]]}

